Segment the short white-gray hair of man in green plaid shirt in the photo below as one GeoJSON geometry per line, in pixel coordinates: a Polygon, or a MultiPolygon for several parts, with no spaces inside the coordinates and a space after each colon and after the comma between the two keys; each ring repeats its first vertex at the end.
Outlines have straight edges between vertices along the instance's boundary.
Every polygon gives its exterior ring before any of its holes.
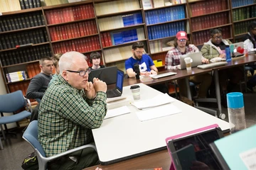
{"type": "Polygon", "coordinates": [[[70,69],[73,64],[75,64],[73,60],[74,57],[81,57],[82,59],[87,60],[87,57],[80,52],[65,52],[65,54],[60,57],[59,61],[60,73],[62,73],[63,70],[70,69]]]}

